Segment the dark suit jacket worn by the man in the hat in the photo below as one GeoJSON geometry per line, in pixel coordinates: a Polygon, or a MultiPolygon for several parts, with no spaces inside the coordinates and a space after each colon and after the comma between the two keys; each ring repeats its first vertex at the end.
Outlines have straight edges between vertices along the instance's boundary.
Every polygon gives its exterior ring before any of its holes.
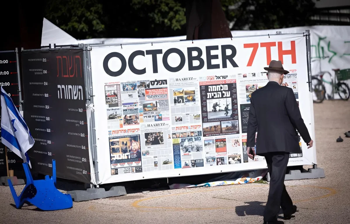
{"type": "Polygon", "coordinates": [[[311,141],[291,88],[270,81],[252,93],[247,147],[256,145],[257,155],[269,152],[301,153],[296,130],[305,142],[311,141]]]}

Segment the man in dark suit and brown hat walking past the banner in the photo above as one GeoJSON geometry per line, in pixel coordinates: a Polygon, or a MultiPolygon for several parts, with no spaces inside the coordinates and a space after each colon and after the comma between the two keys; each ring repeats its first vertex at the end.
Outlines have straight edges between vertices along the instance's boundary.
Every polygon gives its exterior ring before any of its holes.
{"type": "Polygon", "coordinates": [[[299,106],[293,90],[281,86],[283,76],[288,71],[283,69],[281,61],[271,61],[267,70],[269,82],[266,86],[255,90],[250,101],[247,154],[253,159],[254,155],[265,156],[270,187],[264,211],[264,223],[283,223],[277,221],[280,207],[285,219],[296,212],[296,206],[290,199],[284,185],[285,174],[290,153],[301,153],[298,135],[312,147],[309,132],[301,118],[299,106]],[[255,132],[257,134],[256,151],[255,132]]]}

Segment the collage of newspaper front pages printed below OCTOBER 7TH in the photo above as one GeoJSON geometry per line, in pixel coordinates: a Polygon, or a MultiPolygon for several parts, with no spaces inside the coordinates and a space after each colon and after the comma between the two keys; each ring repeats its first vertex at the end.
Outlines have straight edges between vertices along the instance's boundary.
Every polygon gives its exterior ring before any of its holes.
{"type": "MultiPolygon", "coordinates": [[[[248,158],[246,133],[251,94],[267,82],[257,71],[105,83],[111,175],[264,161],[248,158]]],[[[282,85],[298,99],[296,70],[282,85]]]]}

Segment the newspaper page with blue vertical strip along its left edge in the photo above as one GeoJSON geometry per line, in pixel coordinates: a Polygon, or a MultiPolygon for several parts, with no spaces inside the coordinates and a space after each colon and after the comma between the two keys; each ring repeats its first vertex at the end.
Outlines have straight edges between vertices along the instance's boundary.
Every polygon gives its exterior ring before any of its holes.
{"type": "Polygon", "coordinates": [[[202,126],[177,126],[172,128],[174,167],[203,167],[202,126]]]}

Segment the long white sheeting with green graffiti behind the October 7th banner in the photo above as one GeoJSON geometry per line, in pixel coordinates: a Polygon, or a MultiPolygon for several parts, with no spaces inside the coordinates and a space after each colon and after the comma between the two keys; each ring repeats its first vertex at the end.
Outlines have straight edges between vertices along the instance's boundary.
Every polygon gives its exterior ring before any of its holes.
{"type": "MultiPolygon", "coordinates": [[[[313,75],[316,75],[320,71],[328,71],[331,73],[332,78],[334,78],[335,74],[332,69],[350,68],[350,26],[305,26],[270,30],[240,30],[231,31],[231,33],[232,36],[253,36],[267,34],[303,33],[306,30],[310,30],[311,33],[311,72],[313,75]]],[[[95,38],[88,40],[78,40],[78,42],[86,44],[113,44],[176,41],[185,39],[186,36],[159,38],[95,38]]],[[[330,80],[330,77],[324,76],[324,79],[330,80]]],[[[350,84],[349,80],[346,82],[350,84]]],[[[325,87],[327,94],[330,94],[331,86],[325,84],[325,87]]],[[[339,99],[339,96],[337,94],[334,97],[335,99],[339,99]]]]}

